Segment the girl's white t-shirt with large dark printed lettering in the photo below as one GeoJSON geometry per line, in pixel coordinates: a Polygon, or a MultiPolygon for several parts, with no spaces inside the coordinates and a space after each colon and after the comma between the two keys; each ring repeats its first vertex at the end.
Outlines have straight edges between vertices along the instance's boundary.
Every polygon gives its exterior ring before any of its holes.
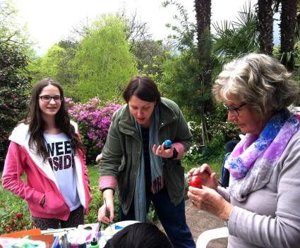
{"type": "Polygon", "coordinates": [[[61,132],[57,135],[44,134],[48,161],[59,184],[59,191],[64,196],[70,210],[80,206],[76,187],[76,167],[73,149],[68,136],[61,132]]]}

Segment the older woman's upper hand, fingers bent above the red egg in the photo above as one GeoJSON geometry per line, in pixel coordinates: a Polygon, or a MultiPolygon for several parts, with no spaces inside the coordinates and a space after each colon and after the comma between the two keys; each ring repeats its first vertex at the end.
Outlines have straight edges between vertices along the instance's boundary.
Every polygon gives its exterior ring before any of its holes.
{"type": "Polygon", "coordinates": [[[199,175],[202,185],[217,190],[216,175],[212,172],[207,163],[203,163],[203,165],[198,168],[192,168],[191,171],[188,171],[187,175],[188,180],[190,180],[193,175],[199,175]]]}

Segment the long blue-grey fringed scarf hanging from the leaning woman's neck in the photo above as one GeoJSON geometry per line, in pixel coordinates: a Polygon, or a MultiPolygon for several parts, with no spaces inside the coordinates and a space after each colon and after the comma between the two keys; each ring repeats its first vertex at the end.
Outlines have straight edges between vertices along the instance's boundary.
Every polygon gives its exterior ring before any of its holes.
{"type": "MultiPolygon", "coordinates": [[[[158,123],[160,120],[160,113],[158,106],[151,116],[151,123],[149,128],[149,155],[150,155],[150,167],[151,167],[151,192],[153,194],[162,190],[164,187],[164,180],[162,177],[162,158],[156,156],[152,152],[153,144],[160,145],[158,141],[158,123]]],[[[136,129],[142,137],[142,130],[140,124],[136,122],[136,129]]],[[[140,165],[138,166],[138,176],[136,178],[136,189],[134,192],[134,210],[136,215],[136,221],[145,222],[147,221],[147,210],[146,210],[146,192],[145,192],[145,161],[144,161],[144,149],[143,146],[140,151],[140,165]]]]}

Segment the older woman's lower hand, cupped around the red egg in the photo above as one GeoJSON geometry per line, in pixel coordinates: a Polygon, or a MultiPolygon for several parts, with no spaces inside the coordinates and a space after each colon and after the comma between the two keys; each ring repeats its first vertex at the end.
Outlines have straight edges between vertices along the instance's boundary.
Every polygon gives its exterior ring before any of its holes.
{"type": "Polygon", "coordinates": [[[188,198],[198,209],[208,211],[223,221],[228,220],[232,211],[232,204],[209,187],[203,186],[203,189],[188,187],[188,198]]]}

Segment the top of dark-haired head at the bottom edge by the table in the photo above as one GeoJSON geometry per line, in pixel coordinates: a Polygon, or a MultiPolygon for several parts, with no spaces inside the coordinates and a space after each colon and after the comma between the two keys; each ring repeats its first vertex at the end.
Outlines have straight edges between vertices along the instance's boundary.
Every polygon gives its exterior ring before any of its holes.
{"type": "Polygon", "coordinates": [[[135,223],[116,233],[104,248],[172,248],[167,235],[156,225],[135,223]]]}

